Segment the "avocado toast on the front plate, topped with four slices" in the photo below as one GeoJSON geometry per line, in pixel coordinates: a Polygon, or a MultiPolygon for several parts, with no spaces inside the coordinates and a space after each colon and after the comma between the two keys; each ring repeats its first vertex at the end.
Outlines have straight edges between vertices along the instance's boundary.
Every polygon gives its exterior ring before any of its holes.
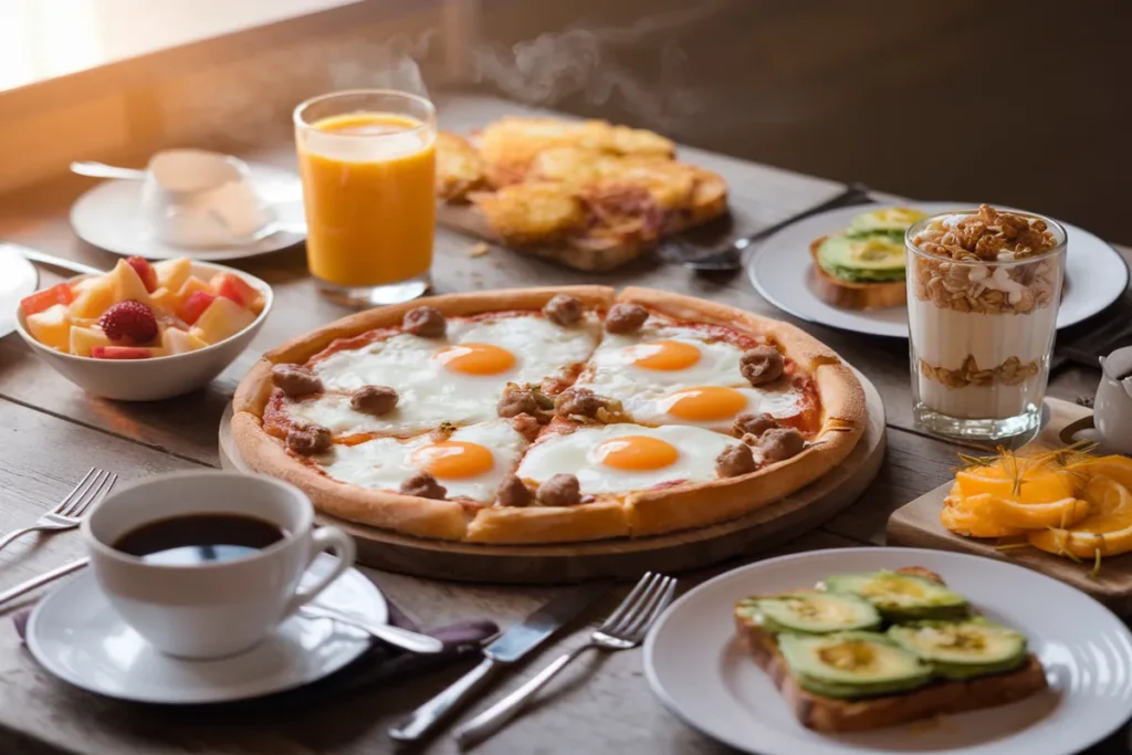
{"type": "Polygon", "coordinates": [[[1024,635],[974,615],[919,567],[745,598],[735,618],[795,715],[817,731],[1003,705],[1046,687],[1024,635]]]}

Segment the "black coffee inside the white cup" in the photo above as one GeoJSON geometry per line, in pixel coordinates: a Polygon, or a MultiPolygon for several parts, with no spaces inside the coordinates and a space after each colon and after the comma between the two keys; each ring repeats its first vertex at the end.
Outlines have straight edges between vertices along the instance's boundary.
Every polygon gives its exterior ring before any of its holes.
{"type": "Polygon", "coordinates": [[[278,525],[255,516],[188,514],[130,530],[114,549],[149,564],[198,566],[254,556],[284,537],[278,525]]]}

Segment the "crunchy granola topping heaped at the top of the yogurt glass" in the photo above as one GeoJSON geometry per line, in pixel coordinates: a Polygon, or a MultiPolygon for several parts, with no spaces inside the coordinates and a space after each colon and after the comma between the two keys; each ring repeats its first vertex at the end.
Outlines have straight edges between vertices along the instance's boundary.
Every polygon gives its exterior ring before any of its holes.
{"type": "Polygon", "coordinates": [[[941,309],[1024,315],[1049,306],[1060,289],[1061,260],[1031,259],[1060,243],[1043,220],[983,205],[975,214],[934,218],[912,243],[923,252],[914,294],[941,309]]]}

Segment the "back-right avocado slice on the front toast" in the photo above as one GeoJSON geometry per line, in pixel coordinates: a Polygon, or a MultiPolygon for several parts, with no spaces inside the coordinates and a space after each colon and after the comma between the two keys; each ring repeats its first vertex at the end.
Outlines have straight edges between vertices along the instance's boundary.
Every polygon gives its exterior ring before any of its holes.
{"type": "Polygon", "coordinates": [[[938,582],[911,574],[873,572],[826,577],[818,587],[860,595],[890,621],[962,619],[970,614],[967,599],[938,582]]]}

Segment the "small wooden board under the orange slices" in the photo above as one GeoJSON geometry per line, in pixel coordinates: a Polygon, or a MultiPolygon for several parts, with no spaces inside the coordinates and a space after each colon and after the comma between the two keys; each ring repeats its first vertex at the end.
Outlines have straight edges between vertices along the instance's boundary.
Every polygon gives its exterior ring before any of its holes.
{"type": "MultiPolygon", "coordinates": [[[[1090,409],[1060,398],[1046,398],[1045,403],[1048,410],[1046,424],[1022,448],[1056,448],[1072,443],[1080,430],[1092,426],[1090,409]]],[[[1116,614],[1132,615],[1132,554],[1106,558],[1100,573],[1090,577],[1092,564],[1077,564],[1036,548],[996,550],[994,540],[963,538],[940,523],[940,509],[951,484],[942,484],[893,512],[889,517],[887,544],[954,550],[1013,561],[1092,595],[1116,614]]],[[[1035,600],[1040,600],[1040,597],[1035,595],[1035,600]]]]}

